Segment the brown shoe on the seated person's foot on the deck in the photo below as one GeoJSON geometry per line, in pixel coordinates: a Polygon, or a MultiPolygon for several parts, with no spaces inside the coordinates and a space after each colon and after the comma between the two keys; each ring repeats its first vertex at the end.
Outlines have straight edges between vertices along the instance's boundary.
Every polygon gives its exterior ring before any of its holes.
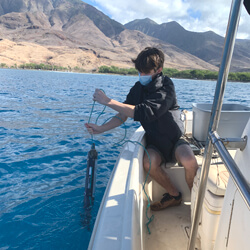
{"type": "Polygon", "coordinates": [[[182,195],[179,192],[178,196],[172,196],[169,193],[165,193],[161,201],[156,201],[150,205],[152,211],[160,211],[167,207],[179,206],[181,204],[182,195]]]}

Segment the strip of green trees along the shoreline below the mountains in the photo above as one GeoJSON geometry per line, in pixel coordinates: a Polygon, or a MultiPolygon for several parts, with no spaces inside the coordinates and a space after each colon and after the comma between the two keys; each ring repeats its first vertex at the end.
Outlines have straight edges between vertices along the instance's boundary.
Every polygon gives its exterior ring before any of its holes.
{"type": "MultiPolygon", "coordinates": [[[[0,68],[8,68],[5,63],[0,64],[0,68]]],[[[61,67],[56,65],[50,64],[35,64],[35,63],[26,63],[22,65],[14,65],[11,68],[19,68],[19,69],[41,69],[41,70],[55,70],[55,71],[73,71],[73,72],[86,72],[83,68],[74,67],[61,67]]],[[[118,68],[116,66],[101,66],[98,68],[98,73],[104,74],[118,74],[118,75],[137,75],[138,72],[135,68],[118,68]]],[[[182,79],[199,79],[199,80],[217,80],[218,72],[216,71],[209,71],[209,70],[177,70],[177,69],[170,69],[164,68],[163,74],[173,77],[173,78],[182,78],[182,79]]],[[[228,76],[229,81],[235,82],[250,82],[250,72],[236,72],[236,73],[229,73],[228,76]]]]}

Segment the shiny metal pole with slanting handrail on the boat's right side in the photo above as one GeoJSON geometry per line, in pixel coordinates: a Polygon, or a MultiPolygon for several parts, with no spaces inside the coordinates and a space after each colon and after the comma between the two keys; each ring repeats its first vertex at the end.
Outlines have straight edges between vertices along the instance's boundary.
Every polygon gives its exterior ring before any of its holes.
{"type": "MultiPolygon", "coordinates": [[[[227,26],[227,33],[226,33],[224,49],[223,49],[223,54],[222,54],[222,59],[221,59],[221,64],[220,64],[220,70],[219,70],[215,94],[214,94],[211,118],[209,122],[208,131],[210,134],[213,133],[214,131],[217,131],[218,125],[219,125],[223,97],[224,97],[226,82],[227,82],[227,78],[229,74],[229,68],[231,64],[237,28],[239,25],[242,3],[243,3],[243,0],[232,0],[231,11],[229,14],[229,20],[228,20],[228,26],[227,26]]],[[[221,151],[223,158],[225,156],[226,159],[230,159],[226,151],[223,150],[223,146],[221,145],[220,140],[215,141],[215,147],[219,148],[219,151],[221,151]]],[[[214,151],[214,146],[208,136],[207,141],[206,141],[205,151],[204,151],[203,162],[202,162],[200,185],[198,188],[196,201],[194,204],[192,227],[191,227],[190,238],[189,238],[189,243],[188,243],[189,250],[195,249],[198,226],[199,226],[199,221],[200,221],[200,216],[201,216],[201,211],[202,211],[202,204],[203,204],[204,197],[205,197],[208,172],[209,172],[209,167],[210,167],[213,151],[214,151]]],[[[239,187],[239,190],[241,190],[240,192],[245,197],[244,199],[248,200],[249,198],[249,195],[247,193],[248,192],[247,189],[249,188],[248,184],[245,183],[243,178],[241,178],[242,176],[240,172],[238,171],[238,167],[236,167],[233,162],[230,161],[230,164],[228,165],[229,165],[230,171],[232,172],[231,173],[229,171],[230,175],[233,175],[232,177],[237,182],[237,187],[239,187]]]]}

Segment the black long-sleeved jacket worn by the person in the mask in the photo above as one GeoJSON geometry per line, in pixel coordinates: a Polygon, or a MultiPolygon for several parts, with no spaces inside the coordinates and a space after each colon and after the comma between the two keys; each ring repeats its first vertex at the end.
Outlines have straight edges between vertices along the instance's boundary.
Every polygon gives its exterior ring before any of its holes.
{"type": "Polygon", "coordinates": [[[134,120],[144,128],[147,145],[154,145],[171,160],[173,147],[182,135],[169,112],[179,109],[172,80],[160,73],[146,86],[138,81],[124,103],[135,105],[134,120]]]}

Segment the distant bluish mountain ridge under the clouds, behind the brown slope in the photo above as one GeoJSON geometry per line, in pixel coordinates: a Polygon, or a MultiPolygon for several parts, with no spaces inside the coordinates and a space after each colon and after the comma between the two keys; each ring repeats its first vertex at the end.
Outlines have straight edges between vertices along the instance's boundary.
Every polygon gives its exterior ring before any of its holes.
{"type": "MultiPolygon", "coordinates": [[[[127,29],[138,30],[158,38],[210,63],[220,65],[224,38],[212,31],[191,32],[177,22],[157,24],[149,18],[137,19],[124,25],[127,29]]],[[[231,70],[250,71],[250,40],[237,40],[231,70]]]]}

